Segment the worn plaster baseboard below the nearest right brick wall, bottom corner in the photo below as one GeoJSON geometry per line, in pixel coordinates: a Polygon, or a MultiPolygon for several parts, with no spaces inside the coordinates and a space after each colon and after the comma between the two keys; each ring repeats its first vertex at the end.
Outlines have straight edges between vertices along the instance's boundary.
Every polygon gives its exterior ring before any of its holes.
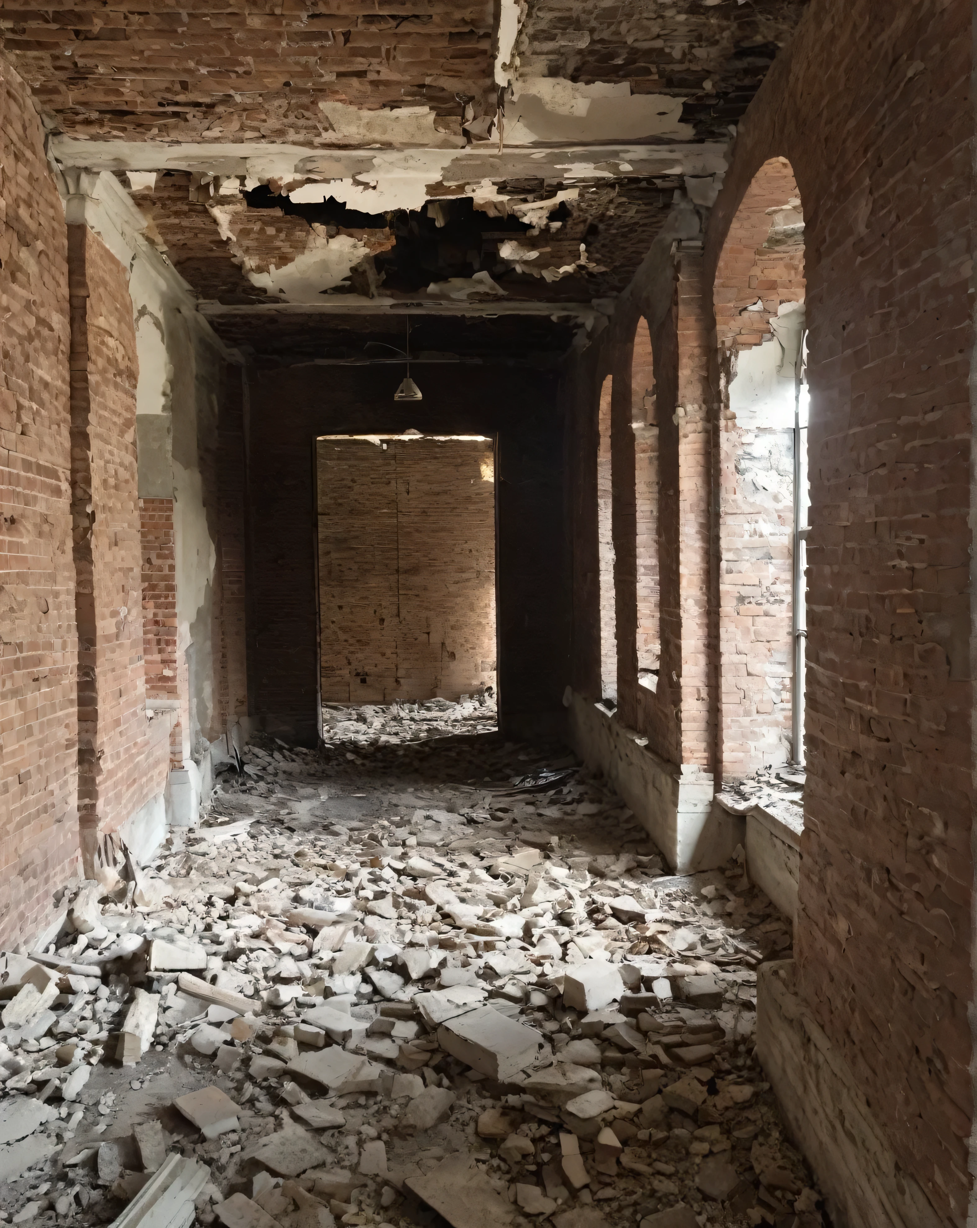
{"type": "Polygon", "coordinates": [[[945,1228],[898,1163],[847,1062],[808,1014],[793,960],[757,970],[756,1046],[835,1228],[945,1228]]]}

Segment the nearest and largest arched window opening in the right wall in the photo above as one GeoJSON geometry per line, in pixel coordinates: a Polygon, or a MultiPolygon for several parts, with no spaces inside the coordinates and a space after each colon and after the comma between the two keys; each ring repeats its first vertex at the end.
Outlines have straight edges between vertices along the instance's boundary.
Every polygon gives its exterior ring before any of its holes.
{"type": "Polygon", "coordinates": [[[790,165],[756,173],[714,286],[723,413],[723,777],[803,763],[806,388],[804,215],[790,165]]]}

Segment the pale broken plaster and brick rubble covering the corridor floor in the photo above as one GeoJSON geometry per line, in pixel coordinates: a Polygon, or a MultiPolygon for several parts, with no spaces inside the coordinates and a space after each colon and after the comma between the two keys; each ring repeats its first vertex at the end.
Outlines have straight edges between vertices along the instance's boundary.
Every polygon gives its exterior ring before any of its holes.
{"type": "Polygon", "coordinates": [[[668,874],[563,748],[376,712],[259,738],[0,957],[0,1217],[820,1226],[754,1059],[790,927],[743,866],[668,874]]]}

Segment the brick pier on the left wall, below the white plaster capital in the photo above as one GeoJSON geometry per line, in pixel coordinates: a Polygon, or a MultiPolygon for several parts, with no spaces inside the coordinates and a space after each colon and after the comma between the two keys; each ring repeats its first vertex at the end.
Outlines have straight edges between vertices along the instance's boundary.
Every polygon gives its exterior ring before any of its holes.
{"type": "Polygon", "coordinates": [[[71,460],[82,856],[160,793],[167,739],[150,731],[136,496],[136,340],[124,266],[69,226],[71,460]]]}

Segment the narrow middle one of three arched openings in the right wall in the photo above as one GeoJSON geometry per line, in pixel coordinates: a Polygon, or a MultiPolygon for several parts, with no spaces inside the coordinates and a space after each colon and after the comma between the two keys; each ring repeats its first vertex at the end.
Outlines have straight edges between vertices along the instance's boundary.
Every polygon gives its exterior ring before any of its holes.
{"type": "Polygon", "coordinates": [[[658,689],[662,657],[658,572],[658,419],[648,324],[638,321],[631,352],[631,426],[635,431],[635,544],[638,684],[658,689]]]}

